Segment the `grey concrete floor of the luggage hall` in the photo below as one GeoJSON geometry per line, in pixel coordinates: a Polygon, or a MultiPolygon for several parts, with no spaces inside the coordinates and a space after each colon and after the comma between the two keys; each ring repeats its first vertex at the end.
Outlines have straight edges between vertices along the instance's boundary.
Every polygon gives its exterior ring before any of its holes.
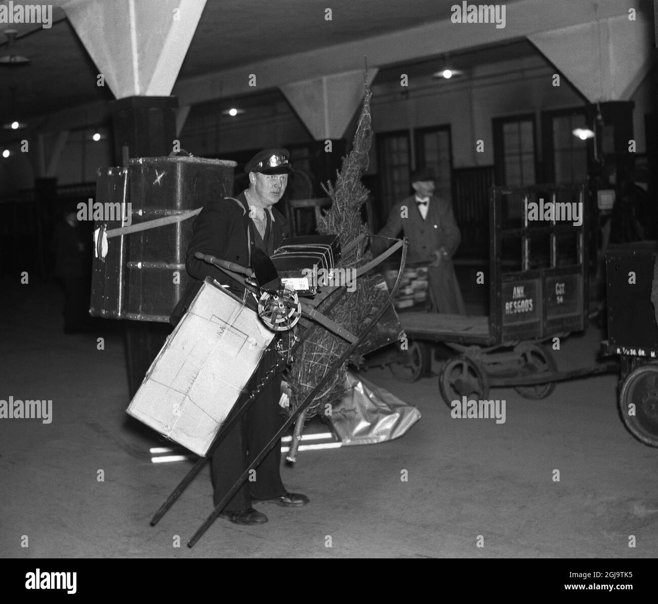
{"type": "MultiPolygon", "coordinates": [[[[311,505],[264,505],[263,526],[216,520],[190,550],[211,510],[209,472],[149,526],[190,463],[149,461],[158,441],[125,413],[120,334],[64,336],[53,285],[0,290],[0,398],[53,400],[49,425],[0,420],[3,557],[658,556],[658,449],[624,429],[616,375],[561,383],[538,401],[494,389],[490,398],[507,401],[507,421],[495,424],[452,419],[436,377],[403,384],[385,370],[367,377],[422,412],[405,437],[300,453],[282,476],[311,505]]],[[[593,364],[599,340],[594,328],[570,337],[559,366],[593,364]]]]}

